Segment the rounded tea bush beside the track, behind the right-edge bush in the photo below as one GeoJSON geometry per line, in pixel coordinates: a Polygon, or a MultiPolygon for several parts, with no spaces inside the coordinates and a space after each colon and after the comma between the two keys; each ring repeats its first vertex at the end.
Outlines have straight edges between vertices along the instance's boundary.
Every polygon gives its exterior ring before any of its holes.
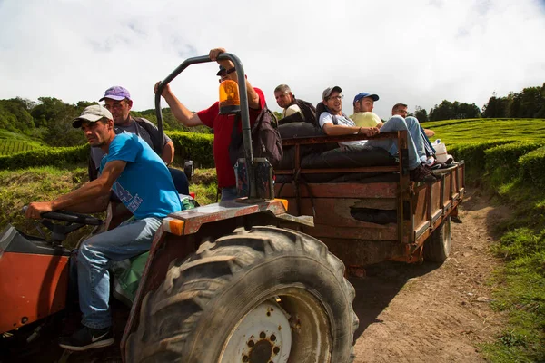
{"type": "Polygon", "coordinates": [[[498,185],[515,179],[520,172],[520,156],[540,148],[543,144],[544,142],[513,142],[485,150],[486,171],[489,172],[490,182],[498,185]]]}

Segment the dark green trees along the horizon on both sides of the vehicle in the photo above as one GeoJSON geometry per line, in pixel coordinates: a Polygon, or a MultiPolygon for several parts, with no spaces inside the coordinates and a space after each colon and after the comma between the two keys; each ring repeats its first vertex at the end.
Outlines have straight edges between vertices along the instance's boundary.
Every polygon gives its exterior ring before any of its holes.
{"type": "MultiPolygon", "coordinates": [[[[40,97],[37,102],[19,97],[0,100],[0,129],[26,134],[50,146],[81,145],[85,143],[84,135],[72,127],[71,121],[91,104],[93,102],[88,101],[64,103],[54,97],[40,97]]],[[[154,109],[132,113],[157,124],[154,109]]],[[[520,93],[509,93],[505,97],[498,97],[494,93],[488,103],[482,106],[482,110],[475,103],[443,100],[431,107],[429,113],[416,106],[412,115],[421,122],[481,117],[545,118],[545,83],[540,87],[524,88],[520,93]]],[[[163,109],[163,127],[165,130],[189,130],[175,120],[168,108],[163,109]]],[[[204,126],[192,128],[191,131],[210,132],[204,126]]]]}

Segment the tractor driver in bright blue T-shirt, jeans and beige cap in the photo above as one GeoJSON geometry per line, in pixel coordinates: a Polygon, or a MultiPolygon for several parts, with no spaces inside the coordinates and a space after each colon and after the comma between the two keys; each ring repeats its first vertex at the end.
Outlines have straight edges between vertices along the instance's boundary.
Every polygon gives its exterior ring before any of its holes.
{"type": "Polygon", "coordinates": [[[95,234],[79,247],[76,263],[83,327],[61,338],[59,345],[81,351],[114,344],[108,272],[112,262],[150,250],[163,218],[182,206],[163,160],[134,133],[116,134],[114,117],[103,106],[86,107],[72,125],[81,128],[91,147],[105,153],[99,176],[54,201],[30,203],[26,217],[39,219],[41,213],[57,210],[104,211],[110,191],[134,214],[134,219],[95,234]]]}

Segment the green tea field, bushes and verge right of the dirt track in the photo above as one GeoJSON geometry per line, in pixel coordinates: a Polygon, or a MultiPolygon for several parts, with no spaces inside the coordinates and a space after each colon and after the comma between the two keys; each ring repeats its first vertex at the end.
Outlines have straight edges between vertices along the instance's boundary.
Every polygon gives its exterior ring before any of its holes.
{"type": "Polygon", "coordinates": [[[509,324],[483,346],[493,362],[545,361],[545,137],[542,119],[478,119],[425,123],[465,160],[466,179],[510,205],[514,217],[500,226],[493,251],[505,261],[497,271],[492,307],[509,324]]]}

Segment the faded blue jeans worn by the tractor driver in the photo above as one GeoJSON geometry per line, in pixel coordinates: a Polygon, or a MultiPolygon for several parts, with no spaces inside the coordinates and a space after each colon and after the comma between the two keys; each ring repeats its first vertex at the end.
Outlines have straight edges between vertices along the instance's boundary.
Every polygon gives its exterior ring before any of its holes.
{"type": "Polygon", "coordinates": [[[124,221],[111,231],[84,240],[77,254],[77,283],[82,324],[92,329],[112,325],[110,273],[112,261],[129,259],[150,250],[161,218],[124,221]]]}

